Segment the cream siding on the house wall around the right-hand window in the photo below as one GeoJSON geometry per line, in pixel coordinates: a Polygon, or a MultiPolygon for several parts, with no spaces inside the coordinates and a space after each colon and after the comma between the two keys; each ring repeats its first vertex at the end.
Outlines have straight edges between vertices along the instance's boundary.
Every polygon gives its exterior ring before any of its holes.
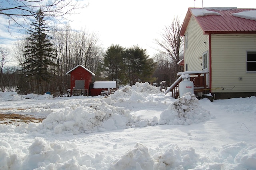
{"type": "Polygon", "coordinates": [[[246,50],[256,51],[256,34],[212,34],[212,92],[256,92],[256,73],[246,73],[246,50]]]}

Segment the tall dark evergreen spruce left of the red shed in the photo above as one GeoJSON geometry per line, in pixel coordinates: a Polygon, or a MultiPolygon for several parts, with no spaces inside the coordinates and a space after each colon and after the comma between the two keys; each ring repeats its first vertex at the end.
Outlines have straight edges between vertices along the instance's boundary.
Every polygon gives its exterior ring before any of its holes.
{"type": "Polygon", "coordinates": [[[28,45],[25,46],[25,75],[31,92],[44,94],[49,91],[54,73],[54,48],[45,24],[42,10],[38,10],[36,21],[28,30],[28,45]]]}

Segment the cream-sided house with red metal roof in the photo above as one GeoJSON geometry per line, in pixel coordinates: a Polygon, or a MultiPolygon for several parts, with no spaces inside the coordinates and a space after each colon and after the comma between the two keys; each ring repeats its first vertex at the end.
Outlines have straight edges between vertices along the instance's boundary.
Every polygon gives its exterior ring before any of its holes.
{"type": "Polygon", "coordinates": [[[256,96],[256,9],[188,8],[184,71],[203,71],[215,99],[256,96]]]}

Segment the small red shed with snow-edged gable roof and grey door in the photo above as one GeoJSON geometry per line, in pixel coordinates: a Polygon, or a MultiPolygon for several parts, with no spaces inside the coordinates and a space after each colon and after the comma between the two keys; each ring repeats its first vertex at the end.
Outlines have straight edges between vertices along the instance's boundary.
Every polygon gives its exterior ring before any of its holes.
{"type": "Polygon", "coordinates": [[[90,83],[92,82],[92,76],[95,76],[95,74],[82,65],[77,65],[75,68],[68,71],[66,74],[69,74],[71,76],[70,95],[88,96],[90,83]]]}

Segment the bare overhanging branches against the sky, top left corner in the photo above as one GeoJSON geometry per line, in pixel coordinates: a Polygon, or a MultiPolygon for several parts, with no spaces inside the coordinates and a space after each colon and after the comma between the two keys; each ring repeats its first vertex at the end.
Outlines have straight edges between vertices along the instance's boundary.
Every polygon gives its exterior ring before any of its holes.
{"type": "Polygon", "coordinates": [[[80,6],[78,0],[4,0],[0,3],[0,15],[7,17],[8,29],[11,22],[27,29],[28,20],[31,16],[34,18],[39,9],[42,9],[45,17],[56,22],[66,14],[74,14],[74,10],[84,7],[86,5],[80,6]]]}

